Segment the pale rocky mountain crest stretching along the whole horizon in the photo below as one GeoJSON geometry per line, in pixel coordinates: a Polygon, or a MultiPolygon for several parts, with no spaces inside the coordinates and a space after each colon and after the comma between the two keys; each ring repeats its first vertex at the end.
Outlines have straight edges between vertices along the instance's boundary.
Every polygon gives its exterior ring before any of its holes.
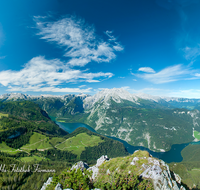
{"type": "MultiPolygon", "coordinates": [[[[3,100],[31,100],[31,99],[41,99],[41,98],[58,98],[65,100],[67,98],[74,98],[74,97],[80,97],[82,100],[84,100],[84,107],[85,108],[91,108],[96,102],[101,101],[108,103],[110,99],[114,100],[116,103],[120,103],[122,100],[127,100],[136,104],[139,104],[138,99],[143,100],[149,100],[152,102],[157,103],[178,103],[178,104],[197,104],[200,103],[200,99],[190,99],[190,98],[178,98],[178,97],[164,97],[164,96],[153,96],[150,94],[145,93],[135,93],[131,94],[128,91],[126,91],[123,88],[113,88],[113,89],[103,89],[102,91],[99,91],[93,96],[90,96],[88,94],[66,94],[66,95],[51,95],[51,94],[41,94],[41,95],[28,95],[28,94],[22,94],[22,93],[10,93],[10,94],[3,94],[0,95],[0,99],[3,100]]],[[[176,106],[175,106],[176,107],[176,106]]],[[[181,107],[179,105],[178,107],[181,107]]],[[[184,107],[184,106],[183,106],[184,107]]]]}

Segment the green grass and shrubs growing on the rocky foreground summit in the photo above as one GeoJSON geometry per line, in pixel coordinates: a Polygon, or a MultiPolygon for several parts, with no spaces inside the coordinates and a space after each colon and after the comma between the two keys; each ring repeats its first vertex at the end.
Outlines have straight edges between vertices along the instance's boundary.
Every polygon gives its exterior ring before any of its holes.
{"type": "MultiPolygon", "coordinates": [[[[142,164],[152,165],[152,163],[148,163],[147,158],[149,157],[149,153],[146,151],[138,151],[132,155],[126,157],[117,157],[113,158],[109,161],[104,162],[99,167],[99,172],[97,177],[95,178],[93,189],[153,189],[152,181],[149,179],[140,178],[139,175],[145,170],[142,167],[142,164]],[[131,162],[134,157],[138,157],[139,160],[136,161],[135,165],[131,165],[131,162]],[[107,173],[109,171],[109,174],[107,173]],[[116,178],[116,174],[118,174],[119,178],[116,178]],[[130,175],[129,175],[130,174],[130,175]],[[139,180],[140,179],[140,180],[139,180]],[[125,188],[122,184],[127,183],[134,185],[134,188],[125,188]],[[104,187],[102,187],[105,184],[104,187]],[[113,187],[108,188],[109,184],[113,184],[113,187]],[[119,185],[121,184],[121,185],[119,185]],[[141,187],[143,184],[143,187],[141,187]],[[123,186],[123,187],[122,187],[123,186]],[[107,188],[106,188],[107,187],[107,188]],[[141,187],[141,188],[140,188],[141,187]]],[[[53,183],[48,186],[48,190],[55,189],[55,185],[59,182],[62,184],[63,188],[73,188],[73,183],[66,183],[68,176],[66,175],[70,169],[64,170],[59,176],[54,176],[53,183]],[[65,181],[66,180],[66,181],[65,181]],[[54,184],[54,185],[53,185],[54,184]],[[68,184],[69,186],[67,186],[68,184]]],[[[85,173],[85,172],[84,172],[85,173]]],[[[85,175],[85,174],[84,174],[85,175]]],[[[86,174],[87,175],[87,174],[86,174]]],[[[76,178],[76,175],[73,175],[72,178],[74,182],[81,179],[80,175],[76,178]]],[[[71,178],[70,181],[73,181],[71,178]]],[[[82,182],[83,183],[83,182],[82,182]]],[[[82,189],[82,188],[80,188],[82,189]]],[[[86,189],[86,188],[85,188],[86,189]]],[[[88,187],[89,189],[89,187],[88,187]]],[[[91,188],[90,188],[91,189],[91,188]]]]}

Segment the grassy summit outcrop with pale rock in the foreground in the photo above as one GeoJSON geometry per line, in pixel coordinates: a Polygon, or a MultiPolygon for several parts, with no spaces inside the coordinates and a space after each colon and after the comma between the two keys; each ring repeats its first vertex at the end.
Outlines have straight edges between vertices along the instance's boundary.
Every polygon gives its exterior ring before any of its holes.
{"type": "MultiPolygon", "coordinates": [[[[86,171],[84,169],[92,171],[93,173],[90,176],[90,180],[94,184],[97,184],[95,185],[96,189],[102,189],[102,186],[99,184],[113,183],[112,180],[116,174],[126,176],[126,183],[129,184],[132,178],[129,178],[128,176],[133,174],[134,176],[138,176],[138,180],[140,181],[137,186],[138,189],[140,189],[141,184],[145,184],[146,186],[144,189],[185,190],[185,187],[182,186],[180,176],[170,171],[169,166],[164,161],[153,158],[146,151],[136,151],[130,156],[113,159],[108,159],[107,156],[102,156],[97,160],[97,164],[92,167],[88,167],[86,163],[80,161],[73,165],[71,169],[76,171],[80,169],[82,172],[86,171]]],[[[109,185],[107,185],[107,187],[108,186],[109,185]]],[[[62,190],[62,187],[63,184],[61,182],[57,183],[56,187],[53,189],[62,190]]],[[[106,189],[110,189],[107,187],[106,189]]],[[[66,184],[64,188],[66,189],[66,184]]],[[[71,189],[70,186],[67,188],[71,189]]],[[[125,189],[128,190],[132,188],[128,188],[127,186],[125,189]]]]}

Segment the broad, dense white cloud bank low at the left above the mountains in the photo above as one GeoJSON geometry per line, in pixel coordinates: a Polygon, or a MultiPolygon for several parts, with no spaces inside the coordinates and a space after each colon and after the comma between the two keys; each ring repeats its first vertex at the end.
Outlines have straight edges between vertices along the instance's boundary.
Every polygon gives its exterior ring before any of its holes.
{"type": "MultiPolygon", "coordinates": [[[[47,60],[42,56],[31,59],[20,71],[1,71],[0,84],[9,91],[84,92],[84,89],[62,87],[67,83],[100,82],[112,73],[90,73],[88,70],[71,69],[59,59],[47,60]],[[58,87],[60,86],[60,87],[58,87]]],[[[89,89],[85,89],[89,91],[89,89]]]]}

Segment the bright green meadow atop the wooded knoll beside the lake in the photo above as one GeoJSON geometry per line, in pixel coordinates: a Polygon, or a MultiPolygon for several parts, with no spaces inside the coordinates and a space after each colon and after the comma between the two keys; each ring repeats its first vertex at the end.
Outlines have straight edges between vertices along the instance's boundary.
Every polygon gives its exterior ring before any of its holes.
{"type": "Polygon", "coordinates": [[[81,152],[85,150],[85,147],[97,146],[101,142],[104,141],[98,136],[90,136],[86,133],[80,133],[56,145],[55,147],[60,150],[71,151],[73,154],[80,156],[81,152]]]}

